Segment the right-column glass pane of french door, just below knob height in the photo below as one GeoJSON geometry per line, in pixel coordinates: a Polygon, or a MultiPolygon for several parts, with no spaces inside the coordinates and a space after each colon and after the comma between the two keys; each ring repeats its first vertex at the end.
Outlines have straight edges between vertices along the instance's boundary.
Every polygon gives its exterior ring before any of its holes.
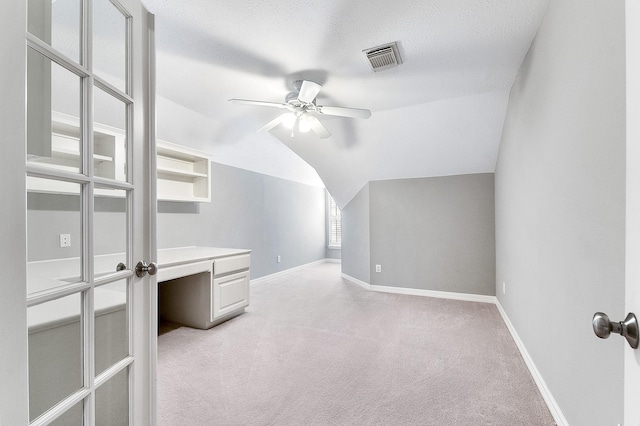
{"type": "Polygon", "coordinates": [[[97,287],[95,295],[96,375],[129,355],[127,280],[97,287]]]}

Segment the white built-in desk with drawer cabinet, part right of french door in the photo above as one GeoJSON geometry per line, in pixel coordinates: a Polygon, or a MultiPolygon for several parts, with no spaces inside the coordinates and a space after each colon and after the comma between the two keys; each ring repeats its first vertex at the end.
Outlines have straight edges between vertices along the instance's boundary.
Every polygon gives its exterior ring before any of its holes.
{"type": "Polygon", "coordinates": [[[158,250],[160,317],[208,329],[249,306],[251,250],[181,247],[158,250]]]}

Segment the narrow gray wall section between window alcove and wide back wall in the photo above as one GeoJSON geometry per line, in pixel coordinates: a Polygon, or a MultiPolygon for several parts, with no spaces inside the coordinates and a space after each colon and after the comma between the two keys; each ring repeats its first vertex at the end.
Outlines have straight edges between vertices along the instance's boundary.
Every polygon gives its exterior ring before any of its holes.
{"type": "Polygon", "coordinates": [[[367,284],[370,269],[369,184],[342,209],[342,272],[367,284]]]}

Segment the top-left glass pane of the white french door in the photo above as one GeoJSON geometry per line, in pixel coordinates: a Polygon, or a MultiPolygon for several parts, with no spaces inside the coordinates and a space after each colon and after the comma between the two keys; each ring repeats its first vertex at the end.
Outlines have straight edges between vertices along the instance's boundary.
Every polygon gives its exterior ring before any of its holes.
{"type": "Polygon", "coordinates": [[[80,61],[80,0],[28,0],[29,32],[80,61]]]}

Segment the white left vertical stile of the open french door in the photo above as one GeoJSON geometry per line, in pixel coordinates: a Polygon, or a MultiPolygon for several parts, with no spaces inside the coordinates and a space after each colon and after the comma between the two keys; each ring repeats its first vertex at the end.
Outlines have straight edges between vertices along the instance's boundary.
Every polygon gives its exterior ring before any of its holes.
{"type": "Polygon", "coordinates": [[[0,17],[0,425],[29,422],[27,372],[26,63],[27,11],[22,1],[3,5],[0,17]],[[7,64],[7,65],[5,65],[7,64]],[[10,65],[9,65],[10,64],[10,65]],[[7,368],[6,366],[10,366],[7,368]]]}

